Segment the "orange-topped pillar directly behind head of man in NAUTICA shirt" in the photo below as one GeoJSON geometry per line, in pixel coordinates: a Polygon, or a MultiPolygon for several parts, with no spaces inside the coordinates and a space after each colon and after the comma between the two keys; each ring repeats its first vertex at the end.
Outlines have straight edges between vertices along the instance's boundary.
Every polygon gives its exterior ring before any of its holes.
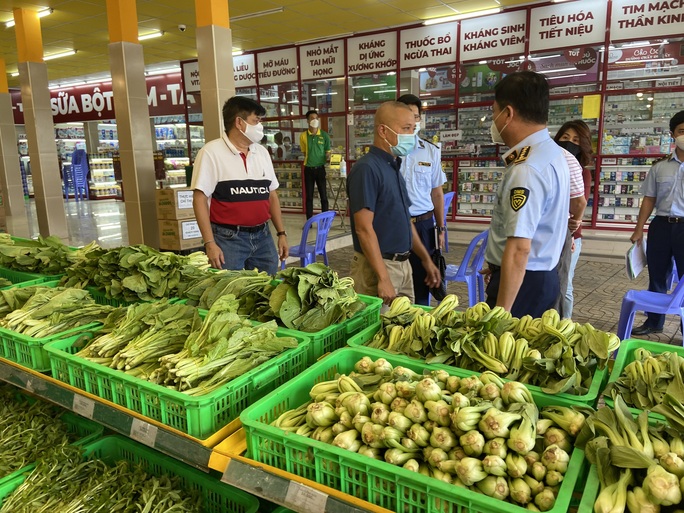
{"type": "Polygon", "coordinates": [[[227,0],[195,0],[195,11],[204,139],[211,141],[224,132],[223,104],[235,96],[233,36],[227,0]]]}

